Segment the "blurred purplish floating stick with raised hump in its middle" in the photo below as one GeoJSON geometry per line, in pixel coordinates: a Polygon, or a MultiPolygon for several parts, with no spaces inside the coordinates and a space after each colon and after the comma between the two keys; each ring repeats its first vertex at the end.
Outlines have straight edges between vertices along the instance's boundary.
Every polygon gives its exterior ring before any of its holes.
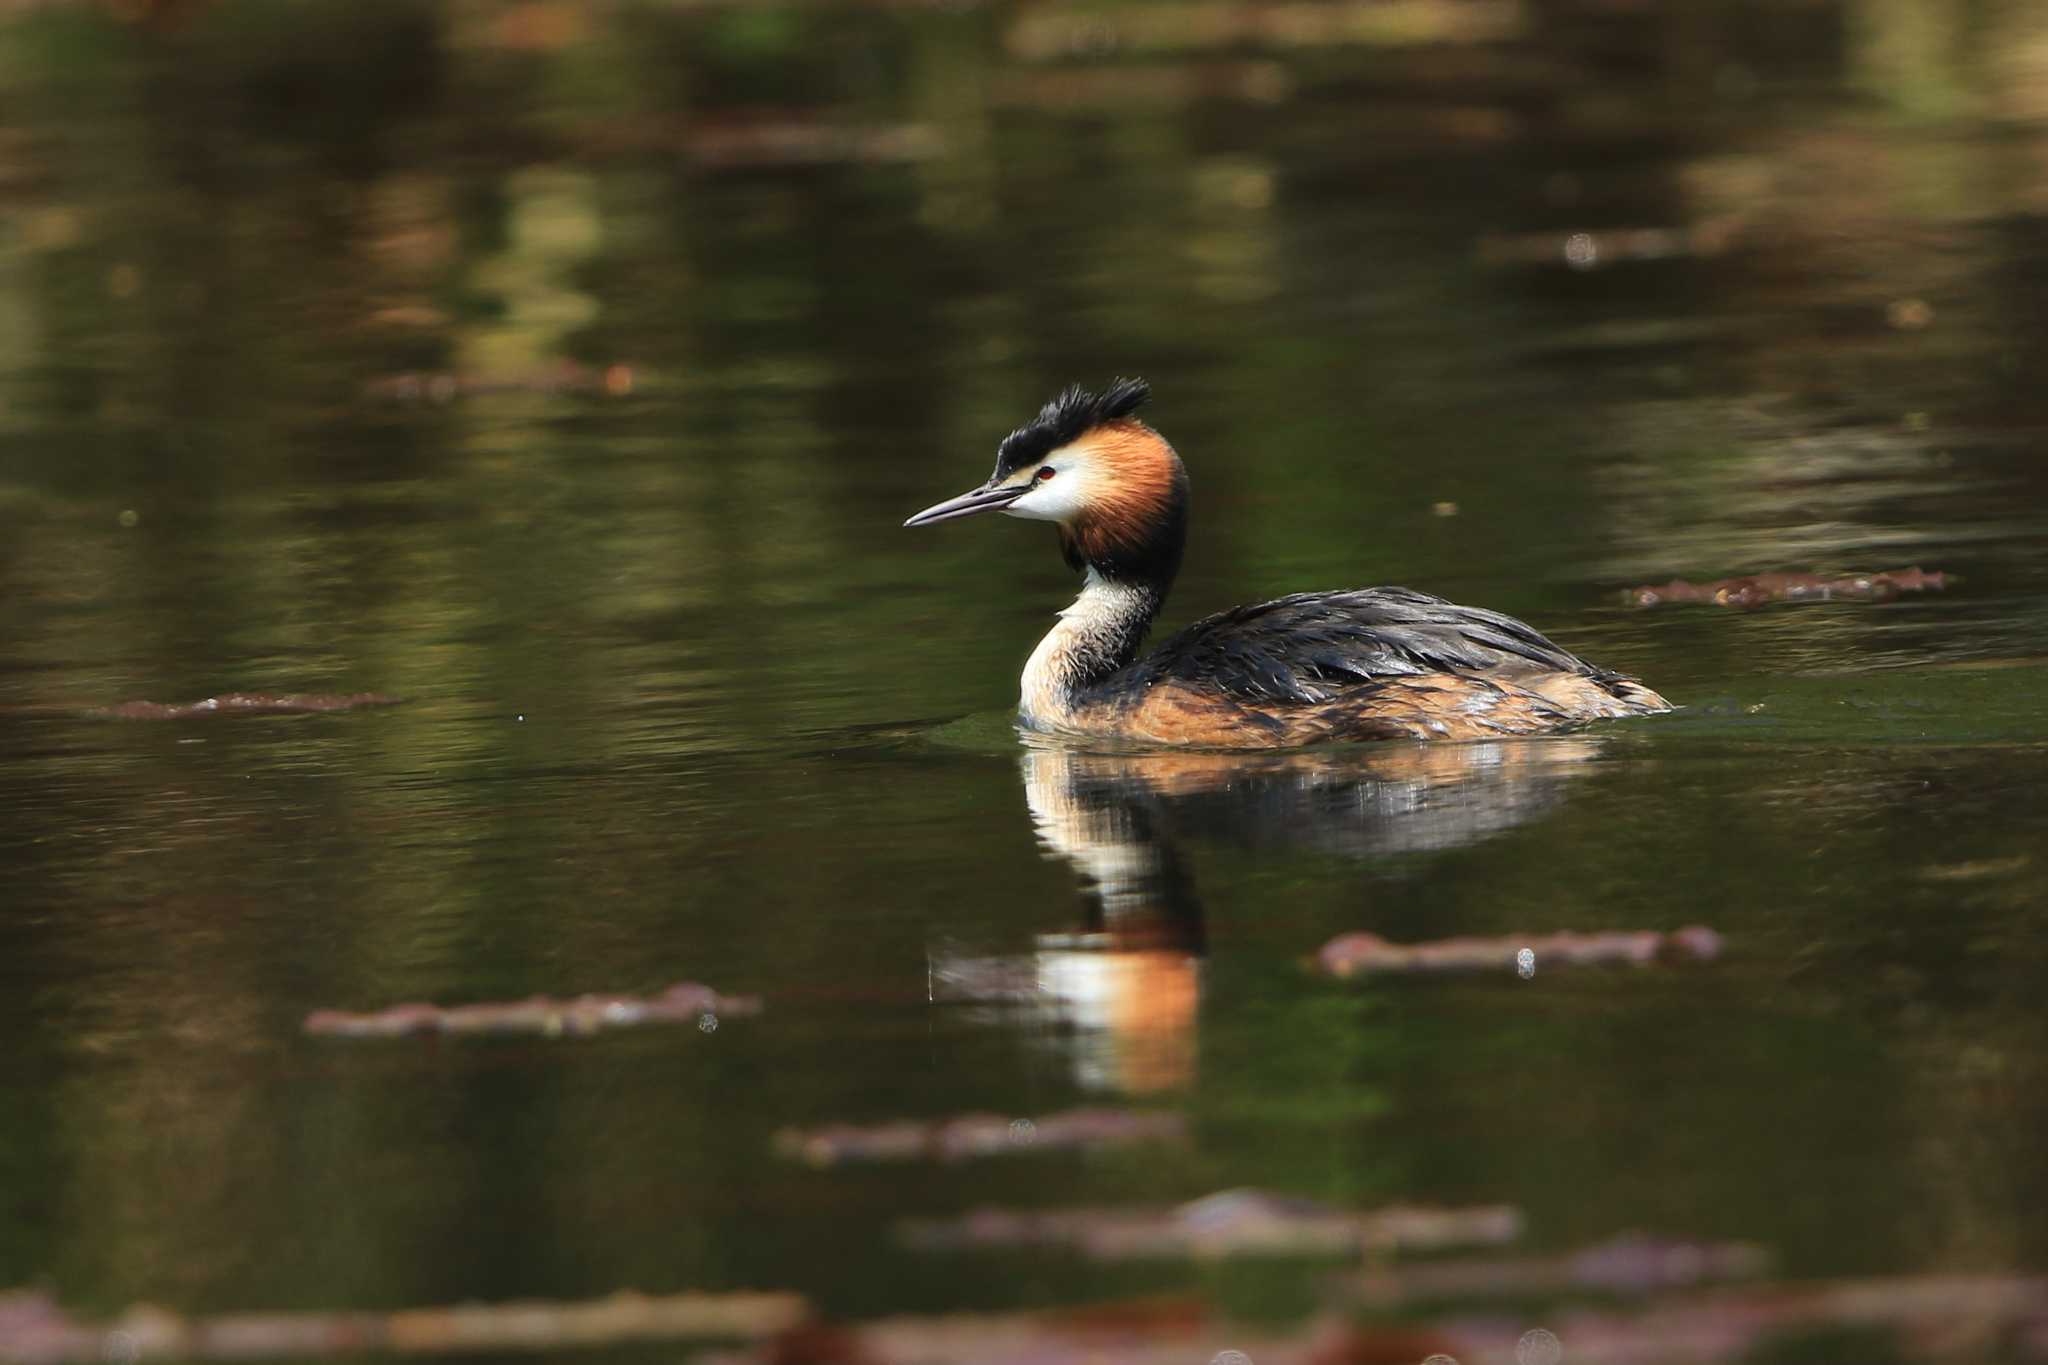
{"type": "Polygon", "coordinates": [[[1395,1205],[1354,1214],[1257,1189],[1227,1189],[1153,1209],[975,1209],[958,1220],[905,1222],[897,1236],[918,1250],[1071,1246],[1096,1261],[1356,1257],[1499,1246],[1522,1236],[1522,1214],[1507,1205],[1395,1205]]]}

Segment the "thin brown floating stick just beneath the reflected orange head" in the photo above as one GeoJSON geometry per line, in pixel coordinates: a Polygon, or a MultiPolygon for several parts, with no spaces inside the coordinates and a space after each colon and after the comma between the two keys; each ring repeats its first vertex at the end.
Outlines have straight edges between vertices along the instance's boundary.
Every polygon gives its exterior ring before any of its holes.
{"type": "Polygon", "coordinates": [[[774,1136],[774,1150],[811,1166],[838,1166],[856,1160],[969,1160],[1122,1142],[1182,1142],[1186,1136],[1188,1121],[1163,1109],[1067,1109],[1034,1119],[965,1113],[866,1128],[784,1128],[774,1136]]]}

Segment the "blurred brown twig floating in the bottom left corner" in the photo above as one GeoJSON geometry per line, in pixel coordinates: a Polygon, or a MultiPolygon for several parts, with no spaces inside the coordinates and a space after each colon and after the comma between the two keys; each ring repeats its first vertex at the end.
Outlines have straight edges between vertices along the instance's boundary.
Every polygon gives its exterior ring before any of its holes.
{"type": "Polygon", "coordinates": [[[614,1293],[582,1302],[180,1318],[135,1306],[115,1322],[66,1314],[39,1289],[0,1293],[0,1361],[244,1361],[287,1357],[569,1351],[631,1340],[752,1338],[809,1316],[797,1293],[614,1293]]]}

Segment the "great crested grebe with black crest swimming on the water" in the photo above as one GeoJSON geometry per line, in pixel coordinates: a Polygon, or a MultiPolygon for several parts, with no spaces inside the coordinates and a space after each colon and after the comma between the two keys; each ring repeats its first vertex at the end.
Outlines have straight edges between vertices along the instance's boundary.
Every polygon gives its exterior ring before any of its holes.
{"type": "Polygon", "coordinates": [[[1311,591],[1194,622],[1139,659],[1180,571],[1188,471],[1133,413],[1141,379],[1071,387],[995,450],[971,493],[903,522],[983,512],[1059,524],[1079,600],[1024,665],[1034,731],[1276,749],[1331,739],[1485,739],[1671,710],[1511,616],[1407,587],[1311,591]]]}

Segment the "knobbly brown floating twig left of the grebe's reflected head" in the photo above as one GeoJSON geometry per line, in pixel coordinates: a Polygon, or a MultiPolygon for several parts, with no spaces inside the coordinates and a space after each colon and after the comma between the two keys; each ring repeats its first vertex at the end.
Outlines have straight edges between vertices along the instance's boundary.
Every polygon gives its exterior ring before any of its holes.
{"type": "Polygon", "coordinates": [[[758,1015],[758,995],[719,995],[694,980],[678,982],[662,995],[580,995],[569,1001],[537,995],[526,1001],[481,1005],[393,1005],[375,1013],[317,1009],[305,1017],[305,1031],[322,1038],[406,1038],[408,1033],[541,1033],[586,1036],[631,1029],[645,1023],[696,1023],[721,1015],[758,1015]]]}

